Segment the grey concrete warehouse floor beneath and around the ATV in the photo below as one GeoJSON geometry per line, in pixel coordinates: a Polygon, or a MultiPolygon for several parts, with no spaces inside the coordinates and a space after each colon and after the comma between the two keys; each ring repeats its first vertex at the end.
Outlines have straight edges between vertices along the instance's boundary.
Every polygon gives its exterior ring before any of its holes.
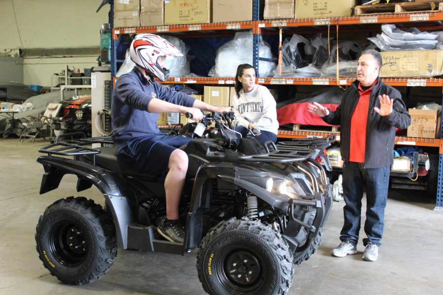
{"type": "MultiPolygon", "coordinates": [[[[43,168],[35,159],[47,141],[0,139],[0,294],[14,295],[197,295],[204,294],[195,268],[195,253],[178,256],[121,250],[109,272],[85,286],[61,284],[43,267],[35,251],[35,226],[54,201],[79,195],[76,178],[66,176],[60,188],[39,195],[43,168]]],[[[97,189],[81,196],[103,204],[97,189]]],[[[391,191],[379,260],[357,255],[330,256],[340,242],[343,203],[334,202],[316,255],[296,266],[289,294],[442,294],[443,212],[419,191],[391,191]]],[[[362,230],[361,236],[364,236],[362,230]]]]}

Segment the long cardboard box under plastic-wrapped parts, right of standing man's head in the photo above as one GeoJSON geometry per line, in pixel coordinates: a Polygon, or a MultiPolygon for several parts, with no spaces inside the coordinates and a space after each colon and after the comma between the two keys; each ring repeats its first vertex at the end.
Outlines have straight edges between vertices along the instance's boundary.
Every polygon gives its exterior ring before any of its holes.
{"type": "Polygon", "coordinates": [[[383,51],[380,77],[430,78],[443,74],[443,50],[383,51]]]}

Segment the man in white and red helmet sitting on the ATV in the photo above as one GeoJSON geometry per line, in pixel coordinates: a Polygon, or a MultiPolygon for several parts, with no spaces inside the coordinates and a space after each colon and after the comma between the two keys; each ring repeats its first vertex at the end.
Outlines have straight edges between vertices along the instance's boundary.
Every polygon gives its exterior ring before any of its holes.
{"type": "Polygon", "coordinates": [[[171,43],[154,34],[139,34],[130,45],[136,67],[117,80],[112,93],[112,140],[117,157],[152,175],[163,175],[166,219],[158,233],[167,240],[183,242],[179,202],[188,170],[188,156],[178,149],[190,138],[163,135],[157,126],[158,113],[190,113],[201,119],[202,111],[223,112],[182,92],[172,91],[154,80],[168,79],[166,58],[183,56],[171,43]]]}

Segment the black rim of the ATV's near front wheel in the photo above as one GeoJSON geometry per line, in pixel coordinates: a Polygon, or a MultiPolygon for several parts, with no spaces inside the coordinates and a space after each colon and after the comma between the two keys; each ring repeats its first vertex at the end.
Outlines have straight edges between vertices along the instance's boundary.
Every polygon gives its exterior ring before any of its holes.
{"type": "Polygon", "coordinates": [[[221,286],[231,294],[254,294],[265,283],[266,267],[257,251],[245,245],[224,248],[215,261],[221,286]]]}

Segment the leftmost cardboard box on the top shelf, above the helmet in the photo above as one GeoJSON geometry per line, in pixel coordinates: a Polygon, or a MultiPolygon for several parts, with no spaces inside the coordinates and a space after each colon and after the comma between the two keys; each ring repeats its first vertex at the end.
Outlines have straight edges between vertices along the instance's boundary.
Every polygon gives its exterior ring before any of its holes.
{"type": "Polygon", "coordinates": [[[114,1],[114,28],[140,26],[140,0],[114,1]]]}

